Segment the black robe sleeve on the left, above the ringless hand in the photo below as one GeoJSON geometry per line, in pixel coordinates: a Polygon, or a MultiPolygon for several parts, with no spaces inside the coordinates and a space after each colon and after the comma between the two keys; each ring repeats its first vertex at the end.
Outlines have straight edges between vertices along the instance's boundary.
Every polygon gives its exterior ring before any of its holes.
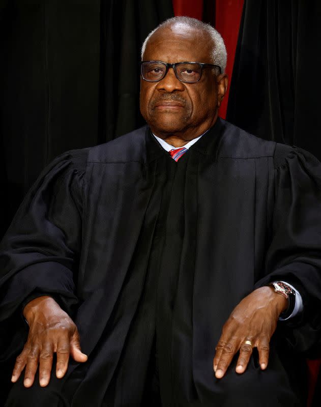
{"type": "Polygon", "coordinates": [[[35,293],[70,312],[81,250],[87,150],[56,158],[26,195],[0,245],[0,322],[35,293]]]}

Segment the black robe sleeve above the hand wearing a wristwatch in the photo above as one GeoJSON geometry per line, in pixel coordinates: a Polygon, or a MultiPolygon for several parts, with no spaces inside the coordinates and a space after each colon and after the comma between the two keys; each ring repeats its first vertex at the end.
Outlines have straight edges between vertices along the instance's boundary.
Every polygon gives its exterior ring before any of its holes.
{"type": "MultiPolygon", "coordinates": [[[[316,351],[321,343],[321,164],[298,148],[277,144],[275,206],[265,277],[289,282],[303,299],[300,318],[281,323],[297,351],[316,351]]],[[[280,325],[281,325],[280,324],[280,325]]]]}

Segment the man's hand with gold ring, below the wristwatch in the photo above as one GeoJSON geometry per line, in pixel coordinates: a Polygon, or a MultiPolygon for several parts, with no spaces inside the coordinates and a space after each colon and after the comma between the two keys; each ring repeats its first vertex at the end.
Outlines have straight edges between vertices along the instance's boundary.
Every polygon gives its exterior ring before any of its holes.
{"type": "Polygon", "coordinates": [[[269,361],[270,339],[278,318],[287,307],[286,298],[270,286],[260,287],[245,297],[232,311],[222,329],[213,361],[215,377],[224,376],[234,355],[240,351],[237,373],[243,373],[253,347],[257,347],[259,365],[266,369],[269,361]]]}

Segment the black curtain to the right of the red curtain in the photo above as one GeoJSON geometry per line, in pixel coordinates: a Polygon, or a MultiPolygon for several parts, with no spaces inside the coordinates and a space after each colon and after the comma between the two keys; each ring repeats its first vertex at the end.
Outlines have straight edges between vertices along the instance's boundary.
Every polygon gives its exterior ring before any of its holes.
{"type": "Polygon", "coordinates": [[[321,159],[319,0],[245,0],[227,120],[321,159]]]}

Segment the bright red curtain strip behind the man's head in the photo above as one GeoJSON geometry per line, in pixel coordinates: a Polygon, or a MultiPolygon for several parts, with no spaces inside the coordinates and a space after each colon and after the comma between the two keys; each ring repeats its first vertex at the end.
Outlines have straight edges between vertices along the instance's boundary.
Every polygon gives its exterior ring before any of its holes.
{"type": "MultiPolygon", "coordinates": [[[[235,50],[238,42],[240,21],[244,0],[216,0],[215,16],[205,15],[211,9],[206,0],[173,0],[173,9],[176,16],[189,16],[198,20],[215,21],[215,28],[222,34],[227,50],[226,73],[229,82],[232,77],[235,50]]],[[[213,4],[213,0],[210,1],[213,4]]],[[[220,108],[220,117],[225,119],[228,101],[228,89],[220,108]]]]}

